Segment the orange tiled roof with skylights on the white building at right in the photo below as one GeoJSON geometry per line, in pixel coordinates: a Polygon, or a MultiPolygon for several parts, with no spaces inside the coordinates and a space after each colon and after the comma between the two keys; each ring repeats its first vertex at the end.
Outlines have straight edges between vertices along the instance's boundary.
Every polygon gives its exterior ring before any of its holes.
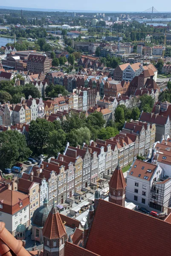
{"type": "Polygon", "coordinates": [[[156,165],[136,159],[129,171],[129,175],[150,181],[156,169],[156,165]],[[145,179],[145,177],[147,178],[145,179]]]}

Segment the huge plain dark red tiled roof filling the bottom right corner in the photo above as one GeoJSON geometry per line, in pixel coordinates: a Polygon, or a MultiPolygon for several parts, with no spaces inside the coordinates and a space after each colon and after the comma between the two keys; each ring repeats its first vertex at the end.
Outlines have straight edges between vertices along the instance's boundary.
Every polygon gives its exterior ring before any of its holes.
{"type": "Polygon", "coordinates": [[[101,256],[170,256],[171,224],[99,199],[86,249],[101,256]]]}

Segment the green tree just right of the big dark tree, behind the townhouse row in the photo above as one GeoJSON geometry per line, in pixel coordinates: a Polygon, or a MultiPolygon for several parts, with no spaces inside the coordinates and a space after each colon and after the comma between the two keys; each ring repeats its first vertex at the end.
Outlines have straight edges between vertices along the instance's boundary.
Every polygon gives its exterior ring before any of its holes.
{"type": "Polygon", "coordinates": [[[64,152],[66,145],[66,133],[58,129],[54,130],[49,134],[49,145],[47,146],[47,152],[50,156],[57,157],[58,153],[64,152]]]}

